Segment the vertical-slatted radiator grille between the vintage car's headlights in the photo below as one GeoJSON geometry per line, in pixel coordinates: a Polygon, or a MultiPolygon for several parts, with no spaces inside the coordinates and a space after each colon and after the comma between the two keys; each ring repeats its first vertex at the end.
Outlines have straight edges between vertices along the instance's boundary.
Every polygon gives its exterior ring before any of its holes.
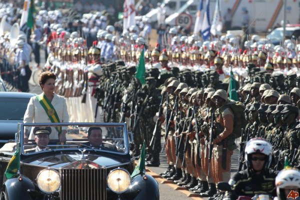
{"type": "Polygon", "coordinates": [[[105,200],[106,169],[62,169],[62,200],[105,200]]]}

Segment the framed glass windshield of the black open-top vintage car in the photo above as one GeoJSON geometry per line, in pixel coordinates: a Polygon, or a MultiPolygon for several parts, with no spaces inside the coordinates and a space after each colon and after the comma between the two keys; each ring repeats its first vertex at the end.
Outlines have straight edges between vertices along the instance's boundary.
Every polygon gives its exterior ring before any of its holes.
{"type": "MultiPolygon", "coordinates": [[[[54,126],[51,123],[38,126],[24,124],[23,129],[24,131],[28,129],[29,137],[28,142],[23,141],[21,152],[32,154],[45,151],[78,150],[78,153],[81,153],[86,149],[95,152],[109,151],[125,154],[128,153],[128,141],[124,127],[122,123],[67,123],[65,126],[54,126]],[[64,143],[58,139],[57,128],[61,127],[67,132],[64,143]],[[55,133],[56,138],[55,135],[51,135],[55,133]]],[[[21,131],[21,135],[24,131],[21,131]]]]}

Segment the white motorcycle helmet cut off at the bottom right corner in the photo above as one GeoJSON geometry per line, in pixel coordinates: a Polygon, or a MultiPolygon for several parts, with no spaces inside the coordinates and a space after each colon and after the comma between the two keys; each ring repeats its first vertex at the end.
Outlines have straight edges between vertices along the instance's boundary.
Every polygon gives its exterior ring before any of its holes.
{"type": "Polygon", "coordinates": [[[282,169],[276,176],[275,185],[278,200],[286,199],[288,194],[284,189],[300,189],[300,171],[295,168],[282,169]]]}

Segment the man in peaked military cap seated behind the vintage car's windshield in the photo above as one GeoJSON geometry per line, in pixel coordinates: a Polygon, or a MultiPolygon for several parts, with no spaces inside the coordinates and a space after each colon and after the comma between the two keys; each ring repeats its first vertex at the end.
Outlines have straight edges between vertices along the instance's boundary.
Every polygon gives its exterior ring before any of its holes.
{"type": "Polygon", "coordinates": [[[33,128],[34,141],[36,147],[33,149],[27,149],[26,152],[39,152],[47,150],[47,145],[50,141],[49,134],[51,134],[51,127],[49,126],[35,126],[33,128]]]}

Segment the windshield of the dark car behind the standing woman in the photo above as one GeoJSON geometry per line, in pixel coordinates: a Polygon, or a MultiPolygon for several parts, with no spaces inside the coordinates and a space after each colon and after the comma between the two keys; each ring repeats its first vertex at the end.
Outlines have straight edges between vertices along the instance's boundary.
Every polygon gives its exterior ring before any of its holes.
{"type": "Polygon", "coordinates": [[[0,120],[23,120],[29,98],[0,98],[0,120]]]}

